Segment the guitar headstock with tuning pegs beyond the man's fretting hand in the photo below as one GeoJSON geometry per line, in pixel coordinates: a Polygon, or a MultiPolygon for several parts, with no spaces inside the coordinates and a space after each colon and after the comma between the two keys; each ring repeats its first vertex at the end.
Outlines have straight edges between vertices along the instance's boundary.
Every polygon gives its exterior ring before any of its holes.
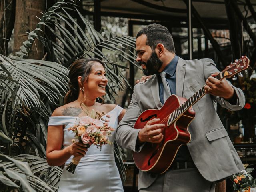
{"type": "Polygon", "coordinates": [[[230,78],[235,74],[246,70],[249,67],[250,60],[246,56],[242,56],[240,59],[236,59],[234,63],[231,63],[229,66],[222,71],[224,78],[230,78]]]}

